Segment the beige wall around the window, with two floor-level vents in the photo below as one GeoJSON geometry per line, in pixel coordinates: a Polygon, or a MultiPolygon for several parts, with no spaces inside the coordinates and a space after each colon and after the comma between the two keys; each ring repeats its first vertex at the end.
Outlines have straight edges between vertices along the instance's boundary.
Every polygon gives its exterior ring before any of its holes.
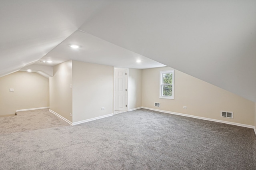
{"type": "Polygon", "coordinates": [[[178,70],[175,70],[174,100],[160,99],[159,72],[171,69],[160,67],[142,70],[143,107],[254,126],[254,102],[178,70]],[[154,102],[160,103],[160,107],[154,107],[154,102]],[[183,109],[183,106],[187,109],[183,109]],[[220,117],[221,111],[234,112],[234,118],[220,117]]]}

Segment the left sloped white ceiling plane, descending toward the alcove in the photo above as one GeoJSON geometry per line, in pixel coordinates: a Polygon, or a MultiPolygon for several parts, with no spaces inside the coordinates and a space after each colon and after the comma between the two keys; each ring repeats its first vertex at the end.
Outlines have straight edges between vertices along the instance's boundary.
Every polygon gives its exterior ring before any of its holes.
{"type": "Polygon", "coordinates": [[[1,0],[0,76],[39,60],[108,2],[1,0]]]}

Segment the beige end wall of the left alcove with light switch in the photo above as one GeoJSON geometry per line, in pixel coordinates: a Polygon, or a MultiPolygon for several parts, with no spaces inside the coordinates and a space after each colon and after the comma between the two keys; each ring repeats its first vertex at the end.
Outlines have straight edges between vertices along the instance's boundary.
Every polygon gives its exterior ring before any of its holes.
{"type": "Polygon", "coordinates": [[[0,77],[0,116],[40,107],[49,107],[49,79],[23,71],[0,77]]]}

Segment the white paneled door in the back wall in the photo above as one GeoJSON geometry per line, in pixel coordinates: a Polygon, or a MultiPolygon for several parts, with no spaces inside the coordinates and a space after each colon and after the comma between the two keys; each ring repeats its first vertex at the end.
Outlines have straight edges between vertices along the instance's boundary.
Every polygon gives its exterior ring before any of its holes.
{"type": "Polygon", "coordinates": [[[126,111],[126,69],[115,68],[115,111],[126,111]]]}

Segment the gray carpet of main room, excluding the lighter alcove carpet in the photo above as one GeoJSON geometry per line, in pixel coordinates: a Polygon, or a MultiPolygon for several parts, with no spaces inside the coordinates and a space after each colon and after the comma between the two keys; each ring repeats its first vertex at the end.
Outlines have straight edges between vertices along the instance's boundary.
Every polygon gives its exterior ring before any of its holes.
{"type": "Polygon", "coordinates": [[[251,128],[139,109],[0,134],[1,170],[255,170],[251,128]]]}

